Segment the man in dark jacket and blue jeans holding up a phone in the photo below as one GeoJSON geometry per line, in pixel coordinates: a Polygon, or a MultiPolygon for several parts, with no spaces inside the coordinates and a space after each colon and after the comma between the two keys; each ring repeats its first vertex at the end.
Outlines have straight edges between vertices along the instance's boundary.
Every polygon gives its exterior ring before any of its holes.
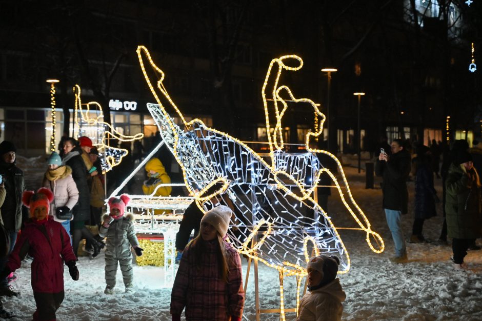
{"type": "Polygon", "coordinates": [[[395,256],[390,260],[394,263],[405,263],[407,248],[401,230],[401,214],[408,212],[407,179],[411,160],[401,139],[392,142],[391,151],[391,156],[380,153],[375,164],[375,174],[383,176],[383,208],[395,243],[395,256]]]}

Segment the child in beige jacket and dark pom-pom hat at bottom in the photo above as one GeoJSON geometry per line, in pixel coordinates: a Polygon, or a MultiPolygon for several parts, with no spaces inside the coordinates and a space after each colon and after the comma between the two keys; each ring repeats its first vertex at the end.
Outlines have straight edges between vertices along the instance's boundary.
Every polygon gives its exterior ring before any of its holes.
{"type": "Polygon", "coordinates": [[[345,291],[340,285],[338,257],[319,255],[308,261],[308,292],[299,303],[296,321],[338,321],[342,319],[345,291]]]}

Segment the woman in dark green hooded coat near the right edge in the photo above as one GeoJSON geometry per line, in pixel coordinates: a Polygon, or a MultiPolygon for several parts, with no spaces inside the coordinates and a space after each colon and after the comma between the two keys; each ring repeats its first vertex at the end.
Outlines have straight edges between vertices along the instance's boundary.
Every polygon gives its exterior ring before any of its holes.
{"type": "Polygon", "coordinates": [[[461,151],[449,168],[446,180],[448,236],[452,237],[453,262],[467,268],[464,257],[469,245],[481,235],[482,197],[480,179],[472,163],[472,156],[461,151]]]}

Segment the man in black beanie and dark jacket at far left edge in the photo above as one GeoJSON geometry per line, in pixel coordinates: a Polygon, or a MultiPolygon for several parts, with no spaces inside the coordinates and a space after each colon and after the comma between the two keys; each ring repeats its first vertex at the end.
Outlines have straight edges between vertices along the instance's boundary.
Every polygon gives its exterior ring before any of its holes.
{"type": "MultiPolygon", "coordinates": [[[[3,141],[0,143],[0,175],[7,196],[0,207],[2,220],[10,237],[9,254],[13,250],[17,233],[22,226],[22,193],[25,190],[24,172],[15,165],[16,147],[12,142],[3,141]]],[[[0,259],[0,270],[5,267],[6,259],[0,259]]],[[[8,287],[7,279],[0,280],[0,295],[17,295],[8,287]]]]}

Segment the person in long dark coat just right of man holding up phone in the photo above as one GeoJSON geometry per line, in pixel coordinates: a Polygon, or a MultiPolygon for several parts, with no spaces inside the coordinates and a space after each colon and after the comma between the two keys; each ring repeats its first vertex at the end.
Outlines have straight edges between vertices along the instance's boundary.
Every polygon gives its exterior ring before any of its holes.
{"type": "Polygon", "coordinates": [[[412,160],[412,173],[415,177],[415,218],[410,242],[421,243],[425,240],[422,234],[425,220],[437,215],[437,192],[433,187],[433,173],[427,146],[417,148],[417,156],[412,160]]]}

